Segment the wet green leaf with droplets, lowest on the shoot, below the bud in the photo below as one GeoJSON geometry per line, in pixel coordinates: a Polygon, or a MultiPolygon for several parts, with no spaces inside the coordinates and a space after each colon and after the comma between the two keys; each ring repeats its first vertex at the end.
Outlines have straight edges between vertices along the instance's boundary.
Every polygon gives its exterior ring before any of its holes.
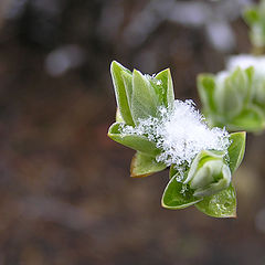
{"type": "Polygon", "coordinates": [[[201,212],[213,218],[236,218],[236,194],[232,184],[216,194],[204,197],[195,204],[201,212]]]}

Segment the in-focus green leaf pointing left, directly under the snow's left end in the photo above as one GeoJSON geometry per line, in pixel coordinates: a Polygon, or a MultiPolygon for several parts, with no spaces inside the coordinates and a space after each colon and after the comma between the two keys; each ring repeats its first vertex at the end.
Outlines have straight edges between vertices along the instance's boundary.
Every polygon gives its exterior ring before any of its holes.
{"type": "Polygon", "coordinates": [[[148,140],[146,136],[120,134],[120,127],[123,125],[123,123],[113,124],[108,129],[108,137],[136,151],[153,157],[159,155],[160,150],[157,148],[156,142],[148,140]]]}

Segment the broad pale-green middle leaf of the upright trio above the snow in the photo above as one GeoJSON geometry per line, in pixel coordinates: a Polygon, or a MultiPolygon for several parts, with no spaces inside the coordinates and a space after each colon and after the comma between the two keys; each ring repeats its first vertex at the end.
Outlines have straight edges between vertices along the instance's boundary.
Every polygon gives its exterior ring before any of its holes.
{"type": "Polygon", "coordinates": [[[131,115],[137,124],[139,119],[156,116],[159,98],[147,77],[139,71],[132,72],[131,115]]]}

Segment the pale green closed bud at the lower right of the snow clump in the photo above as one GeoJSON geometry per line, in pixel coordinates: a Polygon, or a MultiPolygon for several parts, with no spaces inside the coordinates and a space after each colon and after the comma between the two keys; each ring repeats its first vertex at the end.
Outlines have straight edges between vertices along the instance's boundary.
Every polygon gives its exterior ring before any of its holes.
{"type": "Polygon", "coordinates": [[[184,184],[194,190],[194,197],[205,197],[226,189],[231,182],[231,171],[224,153],[201,151],[191,163],[184,184]]]}

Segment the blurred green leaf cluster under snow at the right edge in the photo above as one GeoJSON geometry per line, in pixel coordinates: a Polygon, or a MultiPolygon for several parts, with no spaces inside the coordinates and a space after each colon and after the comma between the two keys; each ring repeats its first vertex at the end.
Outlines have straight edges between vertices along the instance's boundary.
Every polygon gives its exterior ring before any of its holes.
{"type": "Polygon", "coordinates": [[[261,93],[261,83],[254,80],[254,74],[253,67],[237,67],[219,75],[198,76],[203,114],[212,126],[226,127],[230,131],[265,128],[265,102],[262,104],[259,97],[264,91],[261,93]]]}

